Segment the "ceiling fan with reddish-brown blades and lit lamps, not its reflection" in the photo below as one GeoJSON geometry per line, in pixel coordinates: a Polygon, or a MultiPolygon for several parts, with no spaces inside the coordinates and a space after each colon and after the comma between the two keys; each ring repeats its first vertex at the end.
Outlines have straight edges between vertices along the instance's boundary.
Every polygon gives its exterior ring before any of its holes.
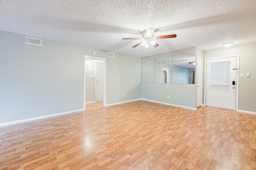
{"type": "Polygon", "coordinates": [[[154,29],[148,28],[145,31],[145,33],[142,34],[142,38],[122,38],[122,40],[143,40],[142,42],[137,43],[136,45],[134,45],[133,48],[142,44],[145,47],[145,52],[146,52],[146,48],[149,47],[149,44],[151,44],[153,47],[157,47],[159,45],[154,40],[165,39],[165,38],[175,38],[177,36],[176,34],[170,34],[170,35],[165,35],[165,36],[156,36],[156,37],[154,37],[153,33],[154,33],[154,29]]]}

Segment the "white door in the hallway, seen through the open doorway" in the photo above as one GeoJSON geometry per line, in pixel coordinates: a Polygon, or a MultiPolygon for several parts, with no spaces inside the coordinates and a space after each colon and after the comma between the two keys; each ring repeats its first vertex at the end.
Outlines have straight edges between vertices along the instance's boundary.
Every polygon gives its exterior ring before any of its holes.
{"type": "Polygon", "coordinates": [[[95,101],[103,100],[103,77],[104,67],[103,63],[94,64],[94,80],[95,80],[95,101]]]}

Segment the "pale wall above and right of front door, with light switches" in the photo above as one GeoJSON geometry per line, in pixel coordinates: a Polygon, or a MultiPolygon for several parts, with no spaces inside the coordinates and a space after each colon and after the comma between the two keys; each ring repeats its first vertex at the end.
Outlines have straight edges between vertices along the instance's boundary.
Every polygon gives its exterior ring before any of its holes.
{"type": "Polygon", "coordinates": [[[238,110],[256,112],[256,43],[204,51],[204,58],[237,54],[240,56],[239,75],[244,73],[244,77],[239,77],[238,110]],[[246,73],[250,73],[250,77],[246,77],[246,73]],[[246,105],[242,105],[242,101],[246,101],[246,105]]]}

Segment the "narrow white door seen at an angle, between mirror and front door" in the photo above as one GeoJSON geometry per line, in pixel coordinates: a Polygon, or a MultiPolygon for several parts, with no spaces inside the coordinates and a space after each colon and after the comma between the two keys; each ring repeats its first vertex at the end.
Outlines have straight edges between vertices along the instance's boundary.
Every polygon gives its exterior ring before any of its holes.
{"type": "Polygon", "coordinates": [[[203,59],[196,57],[196,107],[202,106],[203,96],[203,59]]]}

